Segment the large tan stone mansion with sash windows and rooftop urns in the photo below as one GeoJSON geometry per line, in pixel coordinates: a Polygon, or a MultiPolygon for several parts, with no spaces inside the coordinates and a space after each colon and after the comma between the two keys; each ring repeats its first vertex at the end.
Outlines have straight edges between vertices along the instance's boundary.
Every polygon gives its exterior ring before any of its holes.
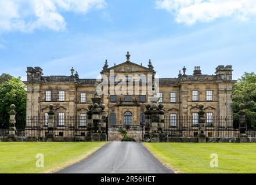
{"type": "MultiPolygon", "coordinates": [[[[153,82],[158,82],[157,95],[166,115],[196,116],[199,103],[203,103],[207,116],[232,116],[232,85],[236,80],[232,80],[231,65],[217,66],[215,75],[203,75],[200,67],[196,66],[192,75],[187,74],[184,67],[175,78],[154,79],[156,71],[151,61],[148,66],[142,66],[131,62],[129,53],[126,57],[125,62],[111,67],[106,61],[100,73],[110,76],[114,71],[115,75],[125,75],[127,81],[132,80],[129,78],[131,75],[152,75],[153,82]]],[[[59,117],[86,117],[88,105],[95,94],[96,79],[80,79],[73,68],[70,76],[44,76],[41,68],[28,67],[27,82],[24,83],[27,85],[27,116],[46,116],[49,105],[53,104],[59,117]]],[[[103,94],[109,124],[142,124],[145,121],[145,105],[152,96],[148,92],[103,94]]]]}

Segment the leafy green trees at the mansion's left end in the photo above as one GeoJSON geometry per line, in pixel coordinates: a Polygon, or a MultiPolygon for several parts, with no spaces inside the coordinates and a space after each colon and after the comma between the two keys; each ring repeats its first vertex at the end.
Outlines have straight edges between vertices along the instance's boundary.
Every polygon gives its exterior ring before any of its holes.
{"type": "Polygon", "coordinates": [[[26,86],[21,82],[20,77],[15,78],[5,74],[2,76],[7,78],[3,77],[6,81],[0,84],[0,116],[2,117],[0,127],[8,127],[11,104],[16,105],[17,119],[20,119],[20,121],[17,120],[17,124],[21,122],[24,124],[24,120],[26,120],[26,86]]]}

